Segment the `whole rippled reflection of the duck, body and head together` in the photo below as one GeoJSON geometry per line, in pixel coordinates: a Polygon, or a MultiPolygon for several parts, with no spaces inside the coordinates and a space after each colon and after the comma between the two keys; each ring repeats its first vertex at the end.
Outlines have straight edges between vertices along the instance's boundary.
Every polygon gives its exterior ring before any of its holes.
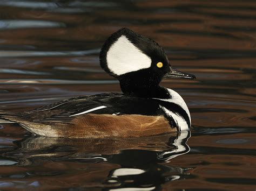
{"type": "MultiPolygon", "coordinates": [[[[101,176],[101,187],[106,189],[138,188],[141,190],[143,188],[143,190],[150,190],[158,188],[166,181],[180,179],[180,175],[185,173],[186,169],[165,165],[165,162],[190,151],[186,144],[189,137],[189,131],[175,135],[130,139],[72,140],[30,137],[16,141],[17,147],[2,151],[2,157],[17,161],[18,164],[15,166],[27,168],[38,164],[48,164],[49,161],[51,164],[58,165],[68,163],[71,166],[66,167],[64,172],[62,169],[62,174],[66,175],[60,179],[66,182],[72,181],[73,186],[79,185],[80,187],[82,182],[87,185],[89,181],[87,174],[91,174],[96,177],[101,176]],[[75,168],[79,164],[87,168],[82,170],[79,168],[79,171],[74,171],[71,176],[72,165],[75,168]]],[[[52,168],[54,167],[51,166],[50,171],[52,168]]],[[[36,176],[44,176],[42,169],[39,174],[34,173],[36,176]]],[[[46,179],[41,178],[44,179],[44,183],[50,179],[49,175],[46,179]]],[[[58,179],[56,175],[55,179],[58,179]]]]}

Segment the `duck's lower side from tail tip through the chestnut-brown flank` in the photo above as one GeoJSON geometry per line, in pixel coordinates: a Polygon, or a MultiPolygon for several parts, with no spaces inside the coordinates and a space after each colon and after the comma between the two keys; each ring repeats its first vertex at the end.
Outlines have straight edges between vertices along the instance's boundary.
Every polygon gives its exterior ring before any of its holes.
{"type": "Polygon", "coordinates": [[[164,116],[86,114],[65,117],[63,121],[33,120],[12,112],[4,114],[3,111],[0,111],[0,116],[46,137],[147,137],[177,131],[170,127],[164,116]]]}

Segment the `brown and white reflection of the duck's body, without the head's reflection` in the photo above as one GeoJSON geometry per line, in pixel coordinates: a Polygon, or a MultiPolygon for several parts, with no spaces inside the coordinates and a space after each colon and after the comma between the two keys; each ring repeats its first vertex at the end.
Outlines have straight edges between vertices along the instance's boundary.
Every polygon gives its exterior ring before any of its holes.
{"type": "Polygon", "coordinates": [[[118,164],[134,166],[138,164],[134,157],[147,164],[152,161],[168,161],[187,153],[190,150],[186,144],[189,137],[189,131],[129,139],[63,139],[30,136],[14,142],[15,150],[12,148],[9,152],[4,149],[3,156],[19,161],[21,166],[30,165],[31,160],[37,157],[81,162],[94,159],[98,161],[99,159],[109,162],[118,161],[118,164]],[[138,150],[145,152],[140,153],[138,150]]]}

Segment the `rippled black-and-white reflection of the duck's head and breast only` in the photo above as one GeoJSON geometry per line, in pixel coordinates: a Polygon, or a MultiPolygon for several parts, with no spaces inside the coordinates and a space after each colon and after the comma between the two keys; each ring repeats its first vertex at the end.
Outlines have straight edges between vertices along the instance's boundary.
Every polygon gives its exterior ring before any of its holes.
{"type": "MultiPolygon", "coordinates": [[[[118,183],[111,190],[155,190],[166,181],[180,179],[180,174],[184,174],[186,169],[161,165],[159,162],[168,161],[178,155],[190,151],[186,144],[190,132],[177,133],[175,136],[161,137],[153,146],[165,143],[161,150],[123,150],[118,155],[111,155],[107,160],[115,164],[120,164],[122,168],[110,171],[107,182],[118,183]],[[167,141],[166,141],[167,140],[167,141]]],[[[154,143],[152,143],[154,144],[154,143]]],[[[152,147],[151,147],[152,148],[152,147]]]]}

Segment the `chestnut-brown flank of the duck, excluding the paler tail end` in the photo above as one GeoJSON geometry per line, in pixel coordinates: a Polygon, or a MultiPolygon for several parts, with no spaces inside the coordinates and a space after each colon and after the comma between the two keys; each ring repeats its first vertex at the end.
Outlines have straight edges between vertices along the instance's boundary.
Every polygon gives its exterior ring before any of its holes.
{"type": "Polygon", "coordinates": [[[69,137],[146,137],[173,132],[164,116],[88,114],[72,120],[69,137]]]}

